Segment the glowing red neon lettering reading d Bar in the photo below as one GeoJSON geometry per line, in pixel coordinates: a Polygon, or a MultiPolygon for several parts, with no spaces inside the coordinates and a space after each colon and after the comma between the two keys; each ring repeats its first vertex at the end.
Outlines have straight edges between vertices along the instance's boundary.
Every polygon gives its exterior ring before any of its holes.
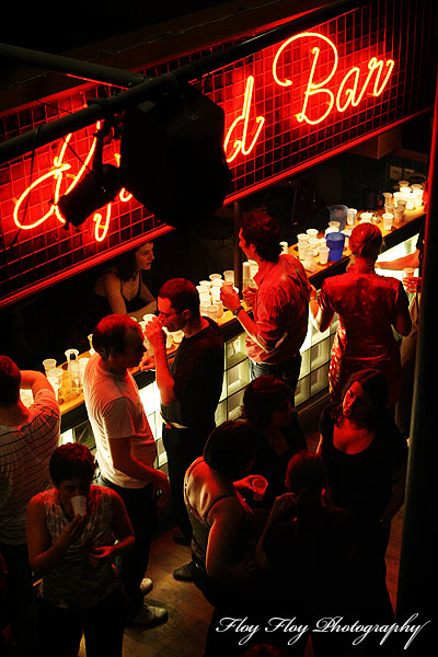
{"type": "MultiPolygon", "coordinates": [[[[292,80],[289,80],[286,77],[281,78],[279,73],[283,58],[285,57],[286,51],[288,51],[288,48],[292,49],[293,44],[308,44],[311,55],[309,77],[306,84],[301,111],[296,114],[296,118],[299,123],[306,122],[309,125],[316,125],[323,122],[332,111],[345,112],[350,105],[357,107],[360,101],[362,101],[365,93],[370,89],[372,78],[374,78],[374,81],[371,94],[374,97],[379,96],[385,89],[394,68],[394,61],[392,59],[383,61],[382,59],[372,57],[368,61],[368,73],[364,81],[360,81],[362,72],[360,68],[353,67],[342,79],[337,92],[333,91],[332,89],[328,89],[327,84],[331,81],[334,82],[333,79],[338,68],[339,57],[336,46],[330,38],[322,34],[303,32],[302,34],[297,34],[296,36],[288,38],[281,44],[274,57],[273,77],[274,81],[279,87],[287,88],[293,84],[292,80]],[[313,47],[311,47],[312,44],[313,47]],[[324,58],[322,57],[322,48],[324,48],[324,58]],[[326,71],[326,69],[328,70],[326,71]],[[316,81],[321,78],[322,72],[324,72],[324,77],[316,81]]],[[[292,66],[292,62],[290,66],[292,66]]],[[[254,136],[251,143],[247,145],[250,111],[253,103],[253,96],[254,78],[250,76],[246,82],[242,114],[234,119],[226,136],[224,151],[227,162],[232,162],[239,152],[242,152],[242,154],[251,152],[263,128],[265,122],[264,117],[256,116],[254,136]],[[231,150],[231,137],[239,127],[242,129],[241,138],[234,138],[232,143],[233,150],[232,152],[229,152],[231,150]]]]}

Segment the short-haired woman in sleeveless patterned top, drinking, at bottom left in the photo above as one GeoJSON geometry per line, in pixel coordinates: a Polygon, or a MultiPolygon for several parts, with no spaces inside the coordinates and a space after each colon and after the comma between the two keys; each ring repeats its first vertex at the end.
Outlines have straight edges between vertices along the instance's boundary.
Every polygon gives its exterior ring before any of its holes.
{"type": "Polygon", "coordinates": [[[134,533],[120,497],[91,485],[94,469],[84,445],[62,445],[49,462],[55,487],[27,506],[30,564],[42,576],[41,657],[77,657],[82,633],[88,657],[122,657],[127,601],[113,558],[134,533]]]}

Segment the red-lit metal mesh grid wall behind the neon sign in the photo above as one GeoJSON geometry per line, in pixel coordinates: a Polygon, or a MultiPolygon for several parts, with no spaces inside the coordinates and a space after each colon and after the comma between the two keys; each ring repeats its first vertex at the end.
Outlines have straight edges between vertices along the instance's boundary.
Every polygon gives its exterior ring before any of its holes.
{"type": "MultiPolygon", "coordinates": [[[[435,3],[377,0],[309,32],[315,36],[265,48],[201,82],[203,91],[226,112],[226,154],[233,176],[229,200],[339,152],[434,102],[435,3]],[[377,70],[370,74],[373,58],[382,62],[380,79],[377,70]],[[389,60],[394,67],[383,84],[389,60]],[[287,80],[292,83],[286,85],[287,80]],[[353,94],[348,90],[355,81],[353,94]],[[374,95],[373,90],[381,92],[374,95]],[[348,97],[358,101],[356,106],[348,97]]],[[[212,49],[145,72],[173,70],[212,49]]],[[[0,119],[0,137],[9,139],[77,111],[91,97],[116,92],[88,87],[35,103],[0,119]]],[[[134,246],[141,235],[168,230],[134,198],[117,198],[110,216],[108,207],[102,208],[101,219],[89,218],[79,232],[64,229],[56,199],[79,180],[94,130],[95,126],[74,132],[0,169],[0,306],[134,246]]],[[[116,151],[117,145],[106,146],[104,161],[116,163],[116,151]]]]}

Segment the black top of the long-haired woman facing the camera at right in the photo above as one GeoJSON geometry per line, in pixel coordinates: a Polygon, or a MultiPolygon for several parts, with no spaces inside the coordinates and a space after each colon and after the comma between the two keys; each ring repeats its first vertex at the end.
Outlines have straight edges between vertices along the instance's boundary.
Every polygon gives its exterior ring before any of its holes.
{"type": "Polygon", "coordinates": [[[361,452],[347,454],[333,445],[334,419],[330,404],[321,415],[321,457],[328,471],[334,503],[361,521],[380,520],[392,494],[392,472],[407,462],[407,445],[392,418],[379,418],[372,442],[361,452]]]}

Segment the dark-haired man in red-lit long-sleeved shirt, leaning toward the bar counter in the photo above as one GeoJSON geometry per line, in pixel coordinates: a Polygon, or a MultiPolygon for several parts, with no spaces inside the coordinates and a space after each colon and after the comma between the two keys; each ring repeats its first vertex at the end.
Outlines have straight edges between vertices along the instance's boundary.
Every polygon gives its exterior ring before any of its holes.
{"type": "Polygon", "coordinates": [[[311,286],[300,261],[283,254],[279,226],[265,210],[244,215],[239,246],[258,264],[257,287],[243,290],[254,319],[234,290],[221,289],[221,300],[246,331],[251,378],[264,374],[286,381],[295,394],[301,367],[300,347],[308,332],[311,286]]]}

